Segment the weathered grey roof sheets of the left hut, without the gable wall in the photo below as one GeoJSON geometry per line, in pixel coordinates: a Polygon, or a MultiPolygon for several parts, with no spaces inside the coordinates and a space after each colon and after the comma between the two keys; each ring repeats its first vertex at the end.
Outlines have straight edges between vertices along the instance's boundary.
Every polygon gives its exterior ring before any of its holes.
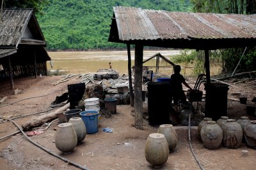
{"type": "MultiPolygon", "coordinates": [[[[6,9],[0,22],[0,48],[17,48],[27,26],[31,26],[36,39],[45,41],[32,9],[6,9]]],[[[45,44],[45,43],[44,43],[45,44]]]]}

